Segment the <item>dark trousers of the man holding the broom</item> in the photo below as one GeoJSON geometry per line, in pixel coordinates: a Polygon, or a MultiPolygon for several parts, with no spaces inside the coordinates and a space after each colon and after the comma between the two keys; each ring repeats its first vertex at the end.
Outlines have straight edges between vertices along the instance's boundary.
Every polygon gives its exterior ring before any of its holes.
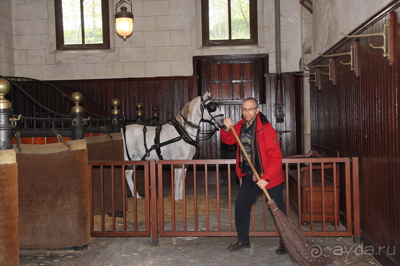
{"type": "MultiPolygon", "coordinates": [[[[250,242],[248,228],[250,225],[251,206],[254,204],[255,197],[261,189],[255,184],[256,182],[252,181],[251,175],[246,174],[241,180],[242,183],[235,201],[234,218],[238,241],[247,243],[250,242]]],[[[283,183],[267,189],[267,192],[271,199],[275,201],[279,210],[286,215],[286,206],[283,201],[283,183]]],[[[281,242],[281,239],[279,242],[281,242]]]]}

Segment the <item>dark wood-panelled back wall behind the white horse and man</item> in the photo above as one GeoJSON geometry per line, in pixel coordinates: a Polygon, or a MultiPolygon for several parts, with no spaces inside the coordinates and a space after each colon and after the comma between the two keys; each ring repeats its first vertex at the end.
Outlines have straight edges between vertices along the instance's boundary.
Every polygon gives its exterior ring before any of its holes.
{"type": "MultiPolygon", "coordinates": [[[[124,78],[124,79],[95,79],[95,80],[56,80],[48,83],[63,86],[65,94],[70,95],[74,90],[85,93],[106,111],[111,111],[111,100],[120,101],[119,110],[122,117],[134,118],[136,103],[143,105],[143,115],[150,118],[152,107],[158,107],[159,121],[165,122],[170,116],[177,116],[179,111],[191,99],[211,92],[211,97],[218,103],[221,112],[230,116],[236,122],[241,119],[240,104],[244,97],[253,96],[260,101],[260,109],[272,126],[278,131],[281,140],[283,157],[296,154],[296,146],[301,145],[301,140],[296,138],[296,111],[295,86],[301,95],[299,78],[291,73],[282,74],[283,98],[285,101],[285,117],[283,123],[276,123],[274,117],[276,74],[267,73],[266,55],[261,58],[253,56],[248,63],[248,56],[230,56],[225,59],[226,75],[230,81],[225,89],[206,83],[203,74],[194,72],[194,76],[154,77],[154,78],[124,78]],[[230,63],[229,63],[230,62],[230,63]],[[235,80],[235,74],[239,76],[235,80]],[[200,74],[200,75],[198,75],[200,74]],[[233,84],[233,85],[232,85],[233,84]],[[236,84],[236,85],[234,85],[236,84]],[[71,90],[72,88],[73,90],[71,90]],[[223,94],[225,91],[225,94],[223,94]],[[236,92],[234,92],[236,91],[236,92]],[[231,97],[232,100],[228,100],[231,97]],[[279,133],[282,131],[283,133],[279,133]]],[[[215,56],[214,61],[221,58],[215,56]]],[[[195,60],[194,60],[195,61],[195,60]]],[[[196,71],[209,71],[207,68],[196,68],[196,71]]],[[[201,72],[200,71],[200,72],[201,72]]],[[[219,70],[218,70],[219,71],[219,70]]],[[[218,73],[218,72],[217,72],[218,73]]],[[[209,75],[207,74],[207,77],[209,75]]],[[[214,82],[216,84],[217,82],[214,82]]],[[[91,106],[82,107],[90,111],[91,106]]],[[[298,108],[298,107],[297,107],[298,108]]],[[[93,108],[94,109],[94,108],[93,108]]],[[[300,115],[300,114],[299,114],[300,115]]],[[[299,123],[297,123],[297,126],[299,123]]],[[[211,129],[212,126],[202,123],[201,129],[211,129]]],[[[300,131],[301,132],[301,131],[300,131]]],[[[211,138],[200,141],[200,150],[197,159],[218,159],[220,154],[219,132],[211,138]]]]}

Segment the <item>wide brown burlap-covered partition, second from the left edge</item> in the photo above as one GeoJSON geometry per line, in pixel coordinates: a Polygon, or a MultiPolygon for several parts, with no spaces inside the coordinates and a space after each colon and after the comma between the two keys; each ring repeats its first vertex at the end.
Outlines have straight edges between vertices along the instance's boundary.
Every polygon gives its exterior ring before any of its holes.
{"type": "Polygon", "coordinates": [[[16,151],[19,248],[58,249],[90,242],[86,141],[16,151]]]}

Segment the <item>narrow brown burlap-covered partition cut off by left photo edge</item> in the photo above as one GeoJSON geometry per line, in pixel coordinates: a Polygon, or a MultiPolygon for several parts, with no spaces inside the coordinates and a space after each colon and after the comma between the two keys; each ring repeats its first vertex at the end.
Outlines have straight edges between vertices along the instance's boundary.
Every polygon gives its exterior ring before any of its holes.
{"type": "Polygon", "coordinates": [[[14,150],[0,151],[0,265],[19,265],[18,169],[14,150]]]}

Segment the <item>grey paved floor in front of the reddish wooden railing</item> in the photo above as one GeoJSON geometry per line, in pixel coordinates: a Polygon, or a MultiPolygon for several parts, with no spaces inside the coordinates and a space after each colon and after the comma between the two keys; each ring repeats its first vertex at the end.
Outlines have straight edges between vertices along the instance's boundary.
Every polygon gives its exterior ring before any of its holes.
{"type": "MultiPolygon", "coordinates": [[[[379,266],[351,238],[313,238],[334,260],[330,265],[379,266]]],[[[252,237],[251,247],[229,251],[235,237],[161,237],[151,246],[149,237],[91,238],[85,251],[20,250],[20,266],[292,266],[288,255],[277,255],[278,238],[252,237]]]]}

